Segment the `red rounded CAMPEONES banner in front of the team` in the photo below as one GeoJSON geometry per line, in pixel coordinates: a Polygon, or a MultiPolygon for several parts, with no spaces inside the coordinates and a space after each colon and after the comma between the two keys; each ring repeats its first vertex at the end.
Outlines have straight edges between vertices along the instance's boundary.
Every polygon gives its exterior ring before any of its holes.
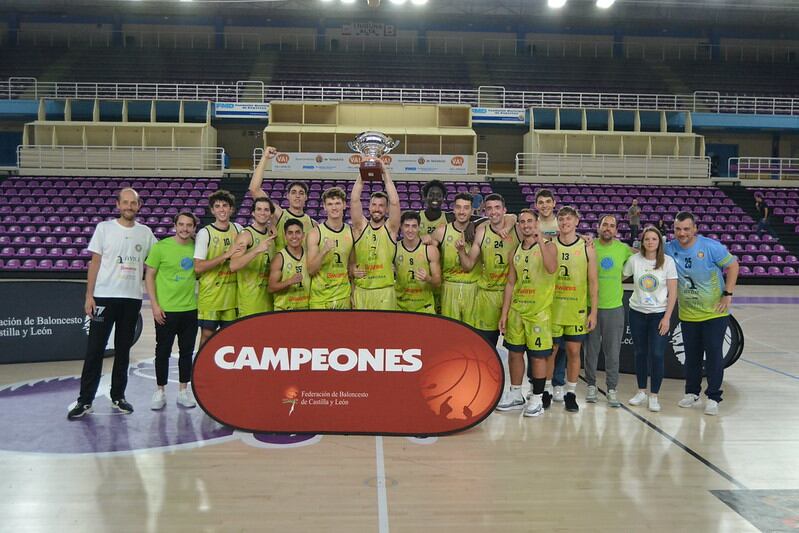
{"type": "Polygon", "coordinates": [[[270,433],[443,435],[499,402],[502,362],[464,324],[394,311],[239,320],[203,345],[192,387],[222,424],[270,433]]]}

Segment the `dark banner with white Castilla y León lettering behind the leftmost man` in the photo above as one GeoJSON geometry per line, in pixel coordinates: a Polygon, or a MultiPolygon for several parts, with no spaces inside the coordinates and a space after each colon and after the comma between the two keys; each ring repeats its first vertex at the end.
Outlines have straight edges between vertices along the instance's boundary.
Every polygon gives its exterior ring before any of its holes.
{"type": "MultiPolygon", "coordinates": [[[[0,363],[83,359],[89,318],[85,281],[0,282],[0,363]]],[[[134,343],[142,331],[136,324],[134,343]]],[[[113,349],[113,331],[109,349],[113,349]]]]}

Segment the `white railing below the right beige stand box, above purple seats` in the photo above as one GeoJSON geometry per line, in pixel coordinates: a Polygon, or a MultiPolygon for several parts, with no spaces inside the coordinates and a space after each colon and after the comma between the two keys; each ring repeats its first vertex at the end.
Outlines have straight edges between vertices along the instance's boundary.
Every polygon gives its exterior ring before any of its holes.
{"type": "Polygon", "coordinates": [[[516,176],[517,178],[708,179],[710,158],[518,153],[516,176]]]}

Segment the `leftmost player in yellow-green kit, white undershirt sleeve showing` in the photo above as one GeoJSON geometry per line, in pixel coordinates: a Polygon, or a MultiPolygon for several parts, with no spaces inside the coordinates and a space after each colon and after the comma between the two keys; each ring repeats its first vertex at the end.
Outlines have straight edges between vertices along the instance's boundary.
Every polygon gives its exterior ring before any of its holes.
{"type": "Polygon", "coordinates": [[[197,299],[197,322],[200,326],[200,346],[214,332],[236,320],[236,274],[231,272],[229,260],[240,246],[236,236],[241,226],[230,222],[236,198],[220,189],[208,197],[208,206],[214,222],[197,233],[194,244],[194,271],[200,276],[197,299]]]}

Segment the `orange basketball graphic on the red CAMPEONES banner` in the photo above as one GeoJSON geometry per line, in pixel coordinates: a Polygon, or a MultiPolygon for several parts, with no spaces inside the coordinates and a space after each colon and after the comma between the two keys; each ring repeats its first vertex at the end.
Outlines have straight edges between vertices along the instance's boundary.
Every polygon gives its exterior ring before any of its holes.
{"type": "Polygon", "coordinates": [[[494,402],[492,391],[501,387],[496,368],[466,354],[430,367],[421,380],[427,405],[443,418],[468,420],[494,402]]]}

